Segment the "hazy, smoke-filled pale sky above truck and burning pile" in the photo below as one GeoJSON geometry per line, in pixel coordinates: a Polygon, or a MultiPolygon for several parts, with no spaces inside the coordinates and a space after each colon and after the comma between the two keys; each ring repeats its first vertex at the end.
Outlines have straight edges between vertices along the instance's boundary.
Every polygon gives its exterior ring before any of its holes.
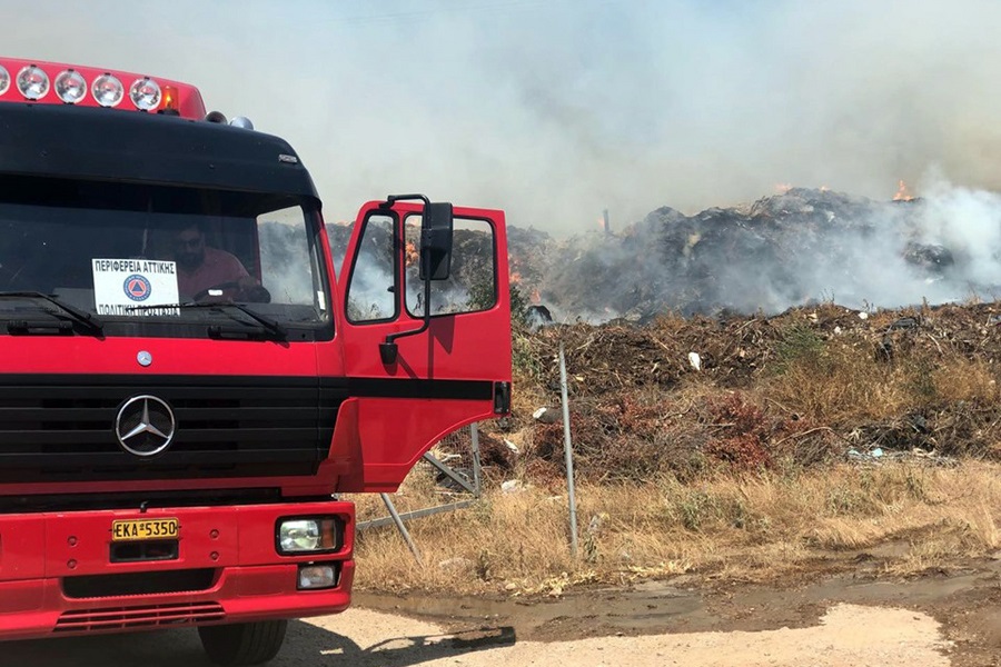
{"type": "Polygon", "coordinates": [[[390,192],[593,229],[775,183],[1001,189],[1001,2],[0,0],[4,54],[197,84],[330,221],[390,192]]]}

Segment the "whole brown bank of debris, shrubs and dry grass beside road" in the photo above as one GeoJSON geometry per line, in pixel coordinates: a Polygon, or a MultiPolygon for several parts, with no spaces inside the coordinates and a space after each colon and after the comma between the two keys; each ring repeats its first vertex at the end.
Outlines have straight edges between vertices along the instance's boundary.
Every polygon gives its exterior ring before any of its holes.
{"type": "MultiPolygon", "coordinates": [[[[678,573],[767,579],[859,558],[913,573],[990,554],[1001,542],[997,312],[822,305],[519,331],[514,414],[484,425],[487,492],[412,524],[424,565],[392,528],[366,531],[359,583],[531,593],[678,573]],[[532,418],[559,406],[561,341],[577,559],[563,425],[532,418]],[[500,492],[508,479],[523,489],[500,492]]],[[[418,467],[397,501],[426,506],[440,492],[418,467]]],[[[356,500],[363,518],[383,514],[377,498],[356,500]]]]}

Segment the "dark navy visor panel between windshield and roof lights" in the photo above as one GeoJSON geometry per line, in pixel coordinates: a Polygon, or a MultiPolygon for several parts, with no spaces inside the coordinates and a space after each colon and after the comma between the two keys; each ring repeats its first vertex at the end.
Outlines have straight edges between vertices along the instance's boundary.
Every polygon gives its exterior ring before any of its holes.
{"type": "Polygon", "coordinates": [[[278,137],[204,120],[100,108],[0,104],[0,175],[248,190],[318,200],[278,137]]]}

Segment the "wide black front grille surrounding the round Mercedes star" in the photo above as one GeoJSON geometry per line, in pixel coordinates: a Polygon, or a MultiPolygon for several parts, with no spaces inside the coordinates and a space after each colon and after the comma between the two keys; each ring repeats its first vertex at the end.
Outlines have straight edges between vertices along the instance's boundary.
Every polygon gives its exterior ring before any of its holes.
{"type": "Polygon", "coordinates": [[[311,475],[343,399],[317,378],[0,376],[0,481],[311,475]],[[149,459],[115,432],[122,405],[143,395],[176,418],[149,459]]]}

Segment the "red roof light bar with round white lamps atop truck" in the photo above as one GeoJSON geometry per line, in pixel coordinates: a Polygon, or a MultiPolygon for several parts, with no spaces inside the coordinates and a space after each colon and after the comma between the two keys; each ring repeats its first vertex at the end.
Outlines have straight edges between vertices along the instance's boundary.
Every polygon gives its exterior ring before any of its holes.
{"type": "Polygon", "coordinates": [[[192,120],[206,117],[201,92],[189,83],[92,67],[0,58],[0,102],[115,108],[126,97],[130,104],[123,108],[192,120]]]}

